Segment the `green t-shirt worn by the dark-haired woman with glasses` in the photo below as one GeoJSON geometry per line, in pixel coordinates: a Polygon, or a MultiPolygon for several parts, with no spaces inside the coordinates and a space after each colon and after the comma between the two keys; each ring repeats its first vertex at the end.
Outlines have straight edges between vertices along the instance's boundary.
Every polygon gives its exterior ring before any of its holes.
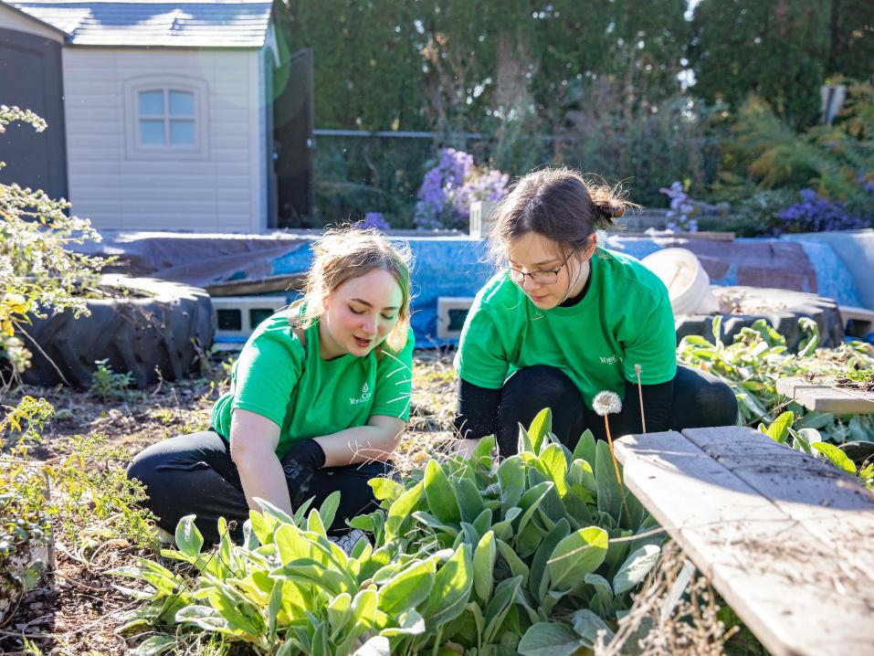
{"type": "Polygon", "coordinates": [[[588,407],[603,390],[624,396],[635,365],[644,385],[672,380],[677,337],[665,285],[627,255],[598,249],[591,262],[589,289],[572,307],[539,310],[504,271],[489,280],[461,332],[458,375],[498,389],[522,367],[552,365],[588,407]]]}

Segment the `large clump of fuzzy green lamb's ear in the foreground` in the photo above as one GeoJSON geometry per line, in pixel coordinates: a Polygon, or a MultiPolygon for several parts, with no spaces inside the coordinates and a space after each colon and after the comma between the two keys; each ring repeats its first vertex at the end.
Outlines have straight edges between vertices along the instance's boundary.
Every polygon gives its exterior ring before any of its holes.
{"type": "Polygon", "coordinates": [[[374,479],[381,507],[351,521],[373,544],[352,555],[324,531],[336,499],[294,516],[261,503],[243,545],[225,538],[209,552],[185,517],[177,548],[162,552],[182,566],[116,571],[146,584],[127,630],[149,627],[149,644],[164,651],[203,631],[257,653],[591,650],[630,607],[662,535],[618,484],[606,443],[587,431],[572,451],[551,425],[544,410],[520,430],[526,448],[506,459],[490,437],[469,460],[374,479]]]}

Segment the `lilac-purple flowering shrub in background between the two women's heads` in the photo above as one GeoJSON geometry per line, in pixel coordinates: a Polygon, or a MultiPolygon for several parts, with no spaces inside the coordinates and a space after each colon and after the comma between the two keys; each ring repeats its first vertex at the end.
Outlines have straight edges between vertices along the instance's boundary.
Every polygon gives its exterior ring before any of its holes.
{"type": "Polygon", "coordinates": [[[440,151],[440,161],[425,174],[419,187],[416,227],[466,228],[470,204],[499,201],[507,193],[509,179],[498,170],[477,167],[469,153],[454,148],[440,151]]]}

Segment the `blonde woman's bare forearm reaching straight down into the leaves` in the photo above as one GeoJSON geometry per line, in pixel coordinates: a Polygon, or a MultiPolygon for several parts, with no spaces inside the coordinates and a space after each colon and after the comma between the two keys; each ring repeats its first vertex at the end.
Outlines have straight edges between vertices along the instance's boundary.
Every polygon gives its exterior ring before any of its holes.
{"type": "Polygon", "coordinates": [[[237,408],[231,418],[230,441],[231,460],[237,465],[248,507],[260,511],[255,503],[255,497],[259,497],[292,514],[285,472],[276,456],[279,426],[266,417],[237,408]]]}

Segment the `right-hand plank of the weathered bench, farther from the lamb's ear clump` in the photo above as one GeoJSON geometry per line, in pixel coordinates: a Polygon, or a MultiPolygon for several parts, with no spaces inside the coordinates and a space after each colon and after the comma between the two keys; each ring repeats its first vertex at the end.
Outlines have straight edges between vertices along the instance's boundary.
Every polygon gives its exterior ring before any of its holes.
{"type": "Polygon", "coordinates": [[[828,545],[854,574],[848,594],[867,599],[874,612],[874,494],[831,464],[757,430],[686,429],[683,435],[828,545]]]}

